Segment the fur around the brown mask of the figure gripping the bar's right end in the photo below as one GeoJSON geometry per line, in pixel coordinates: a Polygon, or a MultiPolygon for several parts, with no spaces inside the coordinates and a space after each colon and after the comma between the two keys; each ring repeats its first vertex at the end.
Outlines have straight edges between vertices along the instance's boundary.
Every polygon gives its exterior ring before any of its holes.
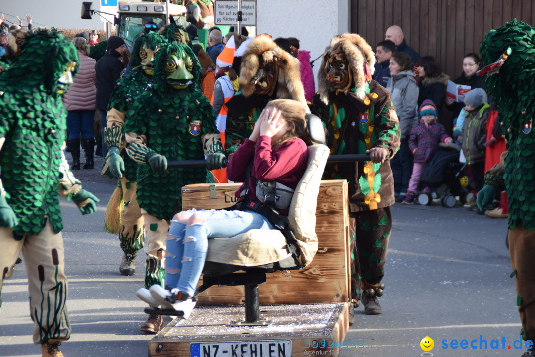
{"type": "Polygon", "coordinates": [[[373,74],[375,69],[373,66],[376,63],[375,54],[370,45],[359,35],[345,33],[336,35],[331,39],[331,43],[325,49],[323,54],[322,64],[318,71],[318,92],[319,98],[325,103],[328,103],[329,89],[327,86],[326,73],[324,71],[327,65],[327,55],[329,52],[343,52],[346,54],[347,60],[351,65],[351,76],[356,87],[356,95],[359,98],[364,98],[364,89],[367,82],[364,74],[364,63],[368,63],[370,74],[373,74]]]}

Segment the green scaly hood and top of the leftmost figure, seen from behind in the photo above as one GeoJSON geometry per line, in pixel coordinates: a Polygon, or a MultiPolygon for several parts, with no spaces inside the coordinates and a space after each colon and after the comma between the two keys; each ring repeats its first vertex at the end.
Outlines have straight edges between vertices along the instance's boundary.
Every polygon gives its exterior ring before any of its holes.
{"type": "Polygon", "coordinates": [[[57,83],[71,61],[79,63],[74,45],[41,31],[28,37],[17,61],[0,75],[0,138],[6,138],[0,175],[19,219],[17,240],[39,233],[45,216],[55,233],[63,229],[58,186],[67,111],[57,83]]]}

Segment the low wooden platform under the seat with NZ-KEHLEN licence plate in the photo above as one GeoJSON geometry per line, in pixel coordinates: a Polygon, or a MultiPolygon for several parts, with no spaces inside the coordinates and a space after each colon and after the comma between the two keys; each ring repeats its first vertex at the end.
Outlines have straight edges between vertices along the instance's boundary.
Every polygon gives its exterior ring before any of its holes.
{"type": "MultiPolygon", "coordinates": [[[[336,357],[349,328],[348,303],[275,305],[261,307],[268,326],[229,326],[243,317],[243,307],[204,307],[193,310],[188,320],[173,320],[149,342],[149,357],[282,357],[304,355],[336,357]],[[258,341],[273,346],[258,351],[258,341]],[[280,350],[291,341],[291,351],[280,350]],[[231,344],[232,351],[218,343],[231,344]],[[251,346],[257,348],[251,352],[251,346]],[[241,351],[244,348],[244,351],[241,351]]],[[[265,347],[265,345],[264,345],[265,347]]],[[[347,347],[347,346],[345,346],[347,347]]]]}

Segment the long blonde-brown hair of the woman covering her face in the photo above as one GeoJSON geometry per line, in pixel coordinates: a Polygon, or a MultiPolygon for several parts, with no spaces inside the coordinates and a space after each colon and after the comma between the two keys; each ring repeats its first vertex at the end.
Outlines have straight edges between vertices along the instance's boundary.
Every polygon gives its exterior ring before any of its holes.
{"type": "Polygon", "coordinates": [[[291,126],[286,134],[281,136],[277,142],[272,142],[271,146],[273,150],[276,150],[284,142],[293,139],[300,138],[307,145],[311,144],[308,131],[307,131],[307,121],[305,119],[305,105],[299,101],[294,101],[293,99],[276,99],[268,102],[265,108],[277,108],[281,111],[281,115],[286,121],[286,124],[291,126]]]}

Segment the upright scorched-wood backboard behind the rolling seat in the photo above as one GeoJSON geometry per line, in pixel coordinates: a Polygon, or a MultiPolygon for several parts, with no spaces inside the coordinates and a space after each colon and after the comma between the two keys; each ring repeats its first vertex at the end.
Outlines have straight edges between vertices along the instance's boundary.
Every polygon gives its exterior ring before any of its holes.
{"type": "MultiPolygon", "coordinates": [[[[184,209],[220,209],[236,202],[240,184],[194,184],[182,188],[184,209]]],[[[266,276],[261,305],[348,302],[350,300],[348,193],[345,180],[322,181],[316,208],[318,252],[301,271],[266,276]]],[[[200,282],[201,284],[201,282],[200,282]]],[[[198,295],[197,306],[242,305],[243,286],[212,286],[198,295]]]]}

